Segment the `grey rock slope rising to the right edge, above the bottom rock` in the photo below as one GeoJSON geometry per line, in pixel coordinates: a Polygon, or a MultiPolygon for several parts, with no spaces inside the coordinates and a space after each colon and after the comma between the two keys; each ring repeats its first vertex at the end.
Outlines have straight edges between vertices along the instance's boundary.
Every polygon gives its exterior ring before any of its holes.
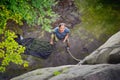
{"type": "Polygon", "coordinates": [[[96,63],[120,63],[120,31],[80,62],[80,64],[96,63]]]}

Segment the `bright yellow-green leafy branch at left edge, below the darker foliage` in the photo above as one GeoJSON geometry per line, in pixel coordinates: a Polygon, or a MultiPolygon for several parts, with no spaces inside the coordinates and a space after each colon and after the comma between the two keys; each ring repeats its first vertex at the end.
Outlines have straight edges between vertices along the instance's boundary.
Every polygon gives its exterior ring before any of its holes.
{"type": "Polygon", "coordinates": [[[18,45],[17,42],[14,41],[14,38],[17,36],[14,32],[5,31],[2,42],[0,42],[0,58],[1,58],[1,66],[0,71],[5,71],[5,68],[9,65],[10,62],[19,65],[26,65],[26,61],[22,60],[21,53],[24,52],[25,47],[18,45]]]}

